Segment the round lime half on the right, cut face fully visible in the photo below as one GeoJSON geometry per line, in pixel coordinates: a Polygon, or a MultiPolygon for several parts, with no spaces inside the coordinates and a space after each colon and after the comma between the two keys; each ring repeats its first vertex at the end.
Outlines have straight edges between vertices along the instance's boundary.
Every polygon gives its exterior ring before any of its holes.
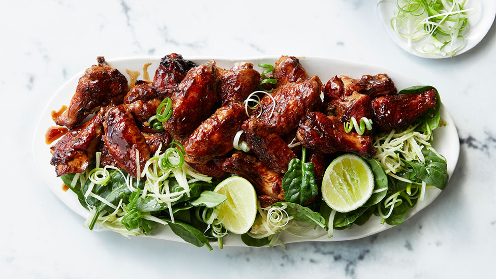
{"type": "Polygon", "coordinates": [[[344,154],[327,167],[322,180],[322,198],[330,208],[349,212],[362,206],[374,191],[374,174],[355,154],[344,154]]]}

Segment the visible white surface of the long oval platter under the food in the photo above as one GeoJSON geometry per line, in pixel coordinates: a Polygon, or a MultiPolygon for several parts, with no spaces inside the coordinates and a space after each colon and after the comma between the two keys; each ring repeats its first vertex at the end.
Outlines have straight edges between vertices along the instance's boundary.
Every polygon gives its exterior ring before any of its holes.
{"type": "MultiPolygon", "coordinates": [[[[130,57],[130,58],[118,58],[118,59],[107,59],[110,66],[117,68],[122,74],[126,75],[129,81],[129,75],[126,73],[126,69],[140,72],[138,80],[143,78],[143,65],[146,63],[151,63],[148,67],[148,73],[150,74],[150,79],[153,79],[153,75],[160,62],[159,56],[141,56],[141,57],[130,57]]],[[[260,64],[271,64],[273,65],[278,59],[276,56],[266,56],[266,57],[185,57],[186,59],[193,60],[197,64],[203,64],[206,61],[214,59],[219,67],[229,69],[236,61],[250,61],[255,65],[255,68],[262,72],[262,70],[256,65],[260,64]]],[[[396,88],[398,90],[413,85],[420,85],[420,82],[414,78],[407,77],[405,75],[399,74],[395,71],[367,64],[351,63],[348,61],[334,59],[334,58],[324,58],[324,57],[299,57],[301,64],[306,69],[309,75],[318,75],[322,82],[325,83],[331,77],[335,75],[347,75],[352,78],[360,78],[363,74],[377,74],[386,73],[394,81],[396,88]]],[[[88,67],[92,64],[96,64],[96,61],[90,61],[88,67]]],[[[82,76],[84,70],[69,79],[64,85],[62,85],[52,96],[48,104],[45,106],[43,113],[40,115],[40,122],[38,123],[35,137],[33,141],[33,154],[35,161],[38,165],[38,169],[45,180],[48,187],[53,191],[53,193],[63,201],[69,208],[81,215],[83,218],[87,218],[88,211],[83,208],[76,197],[71,191],[64,192],[61,189],[62,181],[60,178],[56,177],[55,170],[52,165],[50,165],[51,154],[49,152],[49,146],[45,143],[45,132],[48,127],[54,126],[54,122],[51,118],[50,112],[52,110],[58,110],[62,105],[68,105],[74,92],[76,90],[77,82],[79,77],[82,76]]],[[[435,86],[436,84],[431,84],[435,86]]],[[[440,92],[441,98],[443,97],[443,92],[440,92]]],[[[453,171],[458,161],[459,154],[459,140],[456,127],[453,123],[448,110],[444,105],[441,106],[441,118],[447,122],[446,126],[440,127],[434,131],[435,142],[433,146],[439,151],[447,160],[448,173],[449,176],[453,174],[453,171]]],[[[448,185],[449,187],[449,185],[448,185]]],[[[428,188],[423,201],[419,201],[415,207],[413,207],[408,214],[408,218],[413,216],[415,213],[419,212],[421,209],[429,205],[442,191],[437,188],[428,188]]],[[[328,238],[327,236],[321,236],[317,238],[298,238],[289,234],[283,234],[281,240],[285,243],[292,242],[303,242],[303,241],[341,241],[341,240],[351,240],[366,237],[378,232],[384,231],[391,228],[389,225],[382,225],[380,223],[381,218],[378,216],[371,216],[370,220],[363,226],[353,226],[352,229],[343,231],[334,231],[334,236],[328,238]]],[[[83,219],[81,219],[83,222],[83,219]]],[[[322,233],[322,229],[316,231],[311,231],[310,234],[318,235],[322,233]]],[[[310,236],[310,235],[309,235],[310,236]]],[[[176,236],[168,226],[160,226],[157,230],[153,232],[149,237],[160,238],[172,241],[184,242],[181,238],[176,236]]],[[[215,244],[215,243],[212,243],[215,244]]],[[[245,246],[238,235],[230,234],[224,240],[224,245],[226,246],[245,246]]]]}

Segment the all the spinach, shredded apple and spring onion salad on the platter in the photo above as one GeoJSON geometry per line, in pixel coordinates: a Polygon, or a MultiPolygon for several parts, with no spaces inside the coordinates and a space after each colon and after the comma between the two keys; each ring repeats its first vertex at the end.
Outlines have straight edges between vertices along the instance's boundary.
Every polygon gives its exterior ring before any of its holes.
{"type": "MultiPolygon", "coordinates": [[[[398,94],[417,94],[428,89],[435,88],[414,86],[398,94]]],[[[315,178],[314,164],[305,161],[305,149],[302,148],[301,157],[291,160],[282,180],[286,200],[266,208],[258,204],[255,221],[241,235],[242,241],[249,246],[284,246],[283,234],[305,239],[326,234],[331,237],[333,230],[361,226],[373,214],[380,216],[382,224],[402,224],[409,209],[423,200],[427,188],[443,190],[448,182],[446,160],[431,144],[432,131],[440,123],[441,99],[437,91],[436,96],[436,105],[406,130],[373,136],[377,149],[375,157],[370,160],[358,158],[373,175],[374,181],[370,184],[373,189],[358,208],[337,212],[322,200],[324,194],[320,193],[324,190],[319,191],[322,185],[315,178]]],[[[249,101],[260,102],[251,97],[249,101]]],[[[170,102],[164,100],[157,117],[150,123],[170,117],[167,108],[170,110],[170,102]]],[[[352,119],[344,126],[347,132],[354,127],[362,134],[373,129],[371,120],[363,118],[352,119]]],[[[234,147],[249,150],[244,141],[239,143],[238,134],[234,147]]],[[[141,179],[112,166],[102,167],[100,156],[97,152],[85,172],[61,176],[89,211],[85,226],[90,230],[111,230],[129,237],[149,235],[158,226],[165,225],[196,246],[205,245],[212,250],[210,242],[217,241],[222,249],[228,230],[219,218],[219,210],[221,204],[231,203],[232,199],[226,196],[229,194],[214,192],[221,181],[198,173],[184,163],[184,147],[180,143],[171,142],[166,148],[161,146],[142,170],[137,154],[136,166],[141,179]]]]}

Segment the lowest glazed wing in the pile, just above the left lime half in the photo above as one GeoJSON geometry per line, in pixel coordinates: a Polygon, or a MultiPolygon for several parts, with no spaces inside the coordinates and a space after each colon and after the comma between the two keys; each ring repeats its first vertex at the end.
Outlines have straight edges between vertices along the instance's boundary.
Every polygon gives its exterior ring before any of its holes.
{"type": "Polygon", "coordinates": [[[236,151],[222,165],[222,169],[252,182],[258,195],[267,195],[284,201],[283,175],[267,168],[255,157],[236,151]]]}

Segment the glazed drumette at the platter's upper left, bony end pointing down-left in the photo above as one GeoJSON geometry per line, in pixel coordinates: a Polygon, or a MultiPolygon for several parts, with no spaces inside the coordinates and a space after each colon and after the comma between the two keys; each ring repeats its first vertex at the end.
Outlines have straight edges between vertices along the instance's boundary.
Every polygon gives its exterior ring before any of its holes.
{"type": "Polygon", "coordinates": [[[97,61],[98,65],[86,69],[79,79],[69,108],[55,120],[57,125],[72,129],[98,107],[122,103],[128,92],[128,80],[108,66],[103,56],[98,56],[97,61]]]}

